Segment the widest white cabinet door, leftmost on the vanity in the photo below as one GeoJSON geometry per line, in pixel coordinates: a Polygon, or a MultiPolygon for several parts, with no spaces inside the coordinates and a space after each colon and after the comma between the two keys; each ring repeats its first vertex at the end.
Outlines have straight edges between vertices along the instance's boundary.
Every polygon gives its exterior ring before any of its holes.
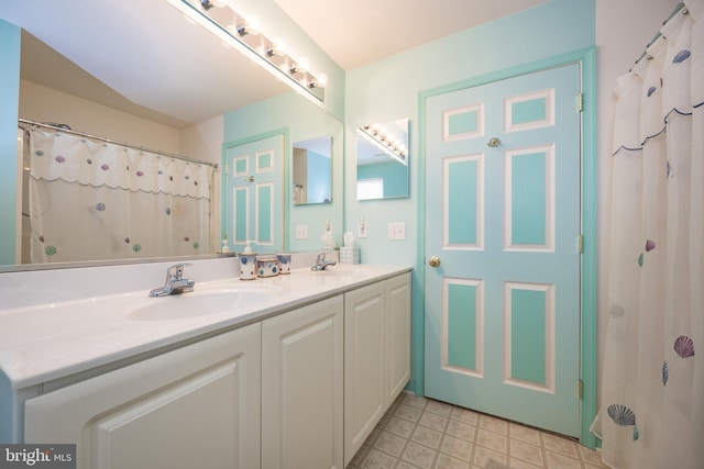
{"type": "Polygon", "coordinates": [[[26,443],[75,443],[78,468],[260,467],[253,324],[31,399],[26,443]]]}

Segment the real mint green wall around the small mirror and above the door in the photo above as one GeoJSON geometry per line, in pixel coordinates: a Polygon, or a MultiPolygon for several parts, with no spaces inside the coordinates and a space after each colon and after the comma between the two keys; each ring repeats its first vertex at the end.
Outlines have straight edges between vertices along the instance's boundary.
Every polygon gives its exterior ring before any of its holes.
{"type": "Polygon", "coordinates": [[[349,70],[345,107],[345,230],[367,223],[358,239],[364,263],[411,265],[413,373],[409,388],[422,393],[424,379],[424,222],[419,198],[419,93],[441,86],[497,74],[595,45],[595,0],[552,0],[458,34],[349,70]],[[374,122],[410,119],[410,197],[356,201],[355,129],[374,122]],[[387,224],[406,223],[406,241],[388,241],[387,224]]]}

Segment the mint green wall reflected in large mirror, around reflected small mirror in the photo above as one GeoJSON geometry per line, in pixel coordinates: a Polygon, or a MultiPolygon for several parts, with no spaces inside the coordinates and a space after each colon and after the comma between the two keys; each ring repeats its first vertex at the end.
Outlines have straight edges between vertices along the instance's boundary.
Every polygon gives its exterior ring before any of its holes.
{"type": "Polygon", "coordinates": [[[326,220],[333,223],[338,246],[342,242],[343,211],[343,125],[316,104],[295,92],[261,101],[248,108],[224,114],[224,142],[239,142],[276,130],[287,130],[289,142],[285,146],[284,193],[290,194],[293,177],[292,145],[320,136],[332,137],[332,203],[294,205],[290,197],[284,199],[287,250],[312,250],[322,247],[321,236],[326,220]],[[296,239],[296,225],[308,225],[308,239],[296,239]]]}

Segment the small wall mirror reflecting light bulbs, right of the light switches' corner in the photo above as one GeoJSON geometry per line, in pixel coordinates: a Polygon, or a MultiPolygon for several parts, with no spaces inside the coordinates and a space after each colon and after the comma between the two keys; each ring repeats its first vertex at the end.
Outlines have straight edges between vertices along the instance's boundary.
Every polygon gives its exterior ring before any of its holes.
{"type": "Polygon", "coordinates": [[[408,119],[360,127],[356,199],[408,197],[408,119]]]}

